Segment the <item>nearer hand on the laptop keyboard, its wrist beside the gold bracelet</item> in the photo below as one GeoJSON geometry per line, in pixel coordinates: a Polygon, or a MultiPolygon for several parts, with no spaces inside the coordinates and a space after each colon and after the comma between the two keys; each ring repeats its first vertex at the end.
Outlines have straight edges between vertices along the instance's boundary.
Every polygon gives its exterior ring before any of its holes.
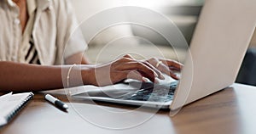
{"type": "MultiPolygon", "coordinates": [[[[86,77],[86,75],[84,76],[86,77]]],[[[164,79],[160,70],[157,70],[152,64],[125,55],[111,63],[96,66],[90,75],[87,75],[87,82],[96,86],[107,86],[125,79],[146,81],[145,77],[153,82],[155,82],[155,78],[164,79]]]]}

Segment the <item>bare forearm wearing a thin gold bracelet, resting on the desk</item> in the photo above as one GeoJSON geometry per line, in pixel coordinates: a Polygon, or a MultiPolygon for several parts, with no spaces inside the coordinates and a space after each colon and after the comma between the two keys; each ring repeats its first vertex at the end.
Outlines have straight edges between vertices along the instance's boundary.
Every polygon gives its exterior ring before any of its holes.
{"type": "MultiPolygon", "coordinates": [[[[70,65],[65,66],[43,66],[33,64],[17,64],[14,62],[0,62],[0,91],[2,92],[23,92],[42,91],[62,88],[67,85],[67,71],[70,65]],[[62,81],[63,80],[63,81],[62,81]]],[[[83,68],[83,75],[88,73],[90,68],[83,68]]],[[[83,82],[76,82],[81,78],[81,70],[74,69],[71,72],[71,86],[79,86],[83,82]]],[[[87,82],[90,83],[90,82],[87,82]]]]}

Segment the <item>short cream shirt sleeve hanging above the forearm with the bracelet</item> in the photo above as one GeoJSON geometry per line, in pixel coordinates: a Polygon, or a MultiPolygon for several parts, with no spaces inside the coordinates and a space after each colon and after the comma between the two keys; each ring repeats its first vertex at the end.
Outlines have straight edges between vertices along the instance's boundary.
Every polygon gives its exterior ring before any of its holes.
{"type": "Polygon", "coordinates": [[[56,8],[57,53],[55,64],[61,64],[64,59],[75,53],[84,53],[87,49],[72,4],[69,0],[58,0],[58,3],[58,8],[56,8]]]}

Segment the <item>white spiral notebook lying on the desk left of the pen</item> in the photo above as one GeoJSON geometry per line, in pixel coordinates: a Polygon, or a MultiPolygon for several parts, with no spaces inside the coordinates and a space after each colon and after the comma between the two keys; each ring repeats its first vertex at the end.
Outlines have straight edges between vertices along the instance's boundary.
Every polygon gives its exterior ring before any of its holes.
{"type": "Polygon", "coordinates": [[[33,97],[32,92],[12,92],[0,97],[0,127],[6,125],[33,97]]]}

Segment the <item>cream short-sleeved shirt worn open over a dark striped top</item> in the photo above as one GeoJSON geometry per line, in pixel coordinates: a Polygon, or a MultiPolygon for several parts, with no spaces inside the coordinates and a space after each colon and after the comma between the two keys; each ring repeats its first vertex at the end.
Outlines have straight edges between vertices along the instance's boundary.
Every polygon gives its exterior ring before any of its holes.
{"type": "Polygon", "coordinates": [[[11,0],[0,1],[0,61],[23,63],[27,53],[24,41],[26,36],[31,35],[43,65],[62,64],[64,59],[87,49],[68,0],[34,1],[36,15],[33,28],[31,32],[26,33],[25,30],[24,35],[20,27],[19,8],[11,0]]]}

